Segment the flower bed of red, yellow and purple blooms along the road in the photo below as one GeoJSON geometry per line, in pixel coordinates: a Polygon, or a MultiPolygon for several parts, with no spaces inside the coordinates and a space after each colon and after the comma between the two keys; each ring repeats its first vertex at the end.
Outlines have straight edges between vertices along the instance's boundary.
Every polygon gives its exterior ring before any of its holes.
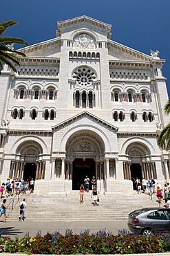
{"type": "Polygon", "coordinates": [[[0,237],[0,253],[31,254],[132,254],[132,253],[165,253],[170,250],[170,233],[164,232],[149,237],[119,231],[118,235],[100,230],[89,234],[89,230],[79,235],[72,230],[47,233],[38,232],[35,237],[29,234],[19,239],[0,237]]]}

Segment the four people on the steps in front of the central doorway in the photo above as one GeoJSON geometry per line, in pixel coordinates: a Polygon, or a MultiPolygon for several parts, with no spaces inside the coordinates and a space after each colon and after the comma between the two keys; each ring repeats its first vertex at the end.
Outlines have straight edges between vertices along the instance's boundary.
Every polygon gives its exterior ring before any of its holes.
{"type": "MultiPolygon", "coordinates": [[[[81,187],[80,187],[80,193],[79,193],[80,194],[80,204],[83,203],[85,190],[87,191],[87,193],[89,192],[89,178],[88,178],[88,176],[85,177],[84,182],[85,182],[85,185],[81,184],[81,187]]],[[[97,201],[98,201],[98,192],[97,192],[97,188],[96,188],[95,176],[93,176],[91,184],[92,184],[91,198],[93,199],[94,206],[96,206],[97,201]]]]}

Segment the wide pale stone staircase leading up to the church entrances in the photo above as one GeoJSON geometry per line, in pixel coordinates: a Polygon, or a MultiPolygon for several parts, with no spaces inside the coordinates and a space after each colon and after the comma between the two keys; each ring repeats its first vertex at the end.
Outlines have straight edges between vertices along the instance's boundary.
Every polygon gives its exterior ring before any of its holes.
{"type": "MultiPolygon", "coordinates": [[[[21,194],[19,201],[14,199],[14,209],[7,210],[8,221],[18,221],[19,203],[25,198],[26,221],[110,221],[127,219],[129,212],[138,208],[158,207],[156,196],[153,199],[147,194],[99,194],[100,202],[97,206],[92,204],[91,192],[85,192],[84,203],[79,203],[79,192],[71,194],[50,194],[40,196],[37,194],[21,194]]],[[[7,204],[12,200],[8,198],[7,204]]],[[[162,205],[163,206],[163,203],[162,205]]],[[[9,205],[11,208],[11,204],[9,205]]]]}

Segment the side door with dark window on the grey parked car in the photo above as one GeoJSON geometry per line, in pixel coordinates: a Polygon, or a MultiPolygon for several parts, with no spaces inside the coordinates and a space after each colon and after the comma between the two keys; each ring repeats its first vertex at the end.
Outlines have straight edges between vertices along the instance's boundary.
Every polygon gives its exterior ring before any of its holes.
{"type": "Polygon", "coordinates": [[[161,232],[163,230],[170,230],[170,219],[164,212],[164,209],[153,210],[147,215],[147,221],[149,226],[156,232],[161,232]]]}

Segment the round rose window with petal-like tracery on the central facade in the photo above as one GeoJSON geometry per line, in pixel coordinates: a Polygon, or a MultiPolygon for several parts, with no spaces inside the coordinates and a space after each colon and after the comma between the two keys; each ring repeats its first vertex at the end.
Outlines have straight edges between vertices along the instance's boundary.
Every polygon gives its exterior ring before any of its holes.
{"type": "Polygon", "coordinates": [[[74,71],[72,77],[76,79],[77,84],[81,86],[88,86],[92,84],[92,79],[94,80],[96,75],[94,75],[94,72],[89,68],[78,68],[74,71]]]}

